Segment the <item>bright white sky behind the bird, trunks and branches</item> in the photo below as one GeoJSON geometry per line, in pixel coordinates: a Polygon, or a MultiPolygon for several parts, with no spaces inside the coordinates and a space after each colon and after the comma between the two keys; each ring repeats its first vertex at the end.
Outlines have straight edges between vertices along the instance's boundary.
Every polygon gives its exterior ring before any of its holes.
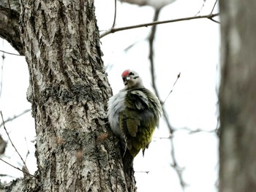
{"type": "MultiPolygon", "coordinates": [[[[95,0],[99,30],[112,26],[114,13],[113,0],[95,0]]],[[[199,15],[211,12],[214,0],[207,0],[199,15]]],[[[170,20],[194,16],[201,8],[203,0],[177,0],[164,7],[159,20],[170,20]]],[[[216,12],[216,11],[215,11],[216,12]]],[[[117,6],[116,27],[149,23],[153,20],[154,9],[138,7],[125,3],[117,6]]],[[[148,61],[148,34],[150,27],[120,31],[101,39],[103,60],[108,79],[117,93],[123,88],[121,72],[124,69],[135,69],[143,77],[144,85],[151,89],[151,78],[148,61]],[[133,45],[129,50],[127,47],[133,45]]],[[[0,41],[0,50],[16,53],[7,42],[0,41]]],[[[0,53],[2,55],[2,53],[0,53]]],[[[24,57],[7,55],[0,64],[3,69],[3,88],[0,98],[0,110],[4,119],[18,115],[31,105],[26,101],[26,90],[29,87],[29,72],[24,57]]],[[[173,93],[165,103],[170,123],[178,129],[174,134],[174,145],[178,165],[184,168],[184,181],[188,184],[185,191],[217,191],[218,175],[218,140],[215,134],[200,132],[189,134],[182,128],[206,131],[217,126],[217,81],[219,79],[219,24],[211,20],[189,20],[178,23],[167,23],[157,26],[154,46],[157,87],[160,99],[165,100],[170,92],[177,74],[181,72],[173,93]]],[[[12,142],[20,155],[27,159],[30,172],[34,172],[34,119],[30,112],[6,124],[12,142]],[[26,138],[26,139],[25,139],[26,138]]],[[[7,141],[4,129],[0,134],[7,141]]],[[[182,191],[176,172],[170,166],[169,132],[162,119],[155,131],[153,141],[145,157],[138,154],[135,158],[135,176],[138,192],[146,191],[182,191]],[[146,174],[145,172],[149,172],[146,174]]],[[[4,160],[21,168],[21,161],[10,142],[4,160]]],[[[0,174],[21,177],[17,169],[0,161],[0,174]]],[[[12,180],[12,177],[0,177],[1,181],[12,180]]]]}

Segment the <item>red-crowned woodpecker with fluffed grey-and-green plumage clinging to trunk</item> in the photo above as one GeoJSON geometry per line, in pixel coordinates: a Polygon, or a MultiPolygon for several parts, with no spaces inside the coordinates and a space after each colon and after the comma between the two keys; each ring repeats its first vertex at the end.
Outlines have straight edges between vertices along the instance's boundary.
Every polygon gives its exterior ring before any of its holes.
{"type": "Polygon", "coordinates": [[[127,69],[121,77],[124,88],[108,101],[108,121],[121,141],[124,171],[129,172],[135,156],[148,148],[159,123],[162,105],[157,96],[144,87],[139,74],[127,69]]]}

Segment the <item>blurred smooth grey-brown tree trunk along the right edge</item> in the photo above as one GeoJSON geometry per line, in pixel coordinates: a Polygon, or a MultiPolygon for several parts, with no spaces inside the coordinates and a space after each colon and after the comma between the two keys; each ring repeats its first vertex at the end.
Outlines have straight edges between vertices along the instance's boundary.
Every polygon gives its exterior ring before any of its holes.
{"type": "Polygon", "coordinates": [[[256,188],[256,1],[220,1],[219,191],[256,188]]]}

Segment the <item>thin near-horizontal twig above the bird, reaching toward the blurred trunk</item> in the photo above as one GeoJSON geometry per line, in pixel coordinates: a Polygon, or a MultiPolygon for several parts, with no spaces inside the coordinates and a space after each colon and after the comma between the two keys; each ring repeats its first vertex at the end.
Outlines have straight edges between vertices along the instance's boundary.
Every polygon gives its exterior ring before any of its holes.
{"type": "Polygon", "coordinates": [[[117,31],[124,31],[124,30],[129,30],[129,29],[132,29],[132,28],[155,26],[155,25],[159,25],[159,24],[174,23],[174,22],[184,21],[184,20],[195,20],[195,19],[203,19],[203,18],[208,18],[209,19],[209,18],[214,18],[214,17],[217,17],[217,16],[219,16],[219,13],[189,17],[189,18],[179,18],[179,19],[174,19],[174,20],[162,20],[162,21],[156,21],[156,22],[151,22],[151,23],[143,23],[143,24],[139,24],[139,25],[135,25],[135,26],[110,28],[109,30],[102,33],[99,37],[102,38],[102,37],[105,37],[108,34],[113,34],[117,31]]]}

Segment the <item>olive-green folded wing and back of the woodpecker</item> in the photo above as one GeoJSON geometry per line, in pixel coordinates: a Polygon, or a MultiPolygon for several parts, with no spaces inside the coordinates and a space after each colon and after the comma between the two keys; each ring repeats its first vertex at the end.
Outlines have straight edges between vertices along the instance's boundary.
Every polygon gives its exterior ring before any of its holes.
{"type": "MultiPolygon", "coordinates": [[[[119,114],[126,147],[133,157],[151,142],[154,128],[159,122],[159,112],[154,109],[157,99],[146,88],[128,91],[124,111],[119,114]],[[153,96],[153,97],[152,97],[153,96]]],[[[159,103],[158,99],[157,102],[159,103]]]]}

